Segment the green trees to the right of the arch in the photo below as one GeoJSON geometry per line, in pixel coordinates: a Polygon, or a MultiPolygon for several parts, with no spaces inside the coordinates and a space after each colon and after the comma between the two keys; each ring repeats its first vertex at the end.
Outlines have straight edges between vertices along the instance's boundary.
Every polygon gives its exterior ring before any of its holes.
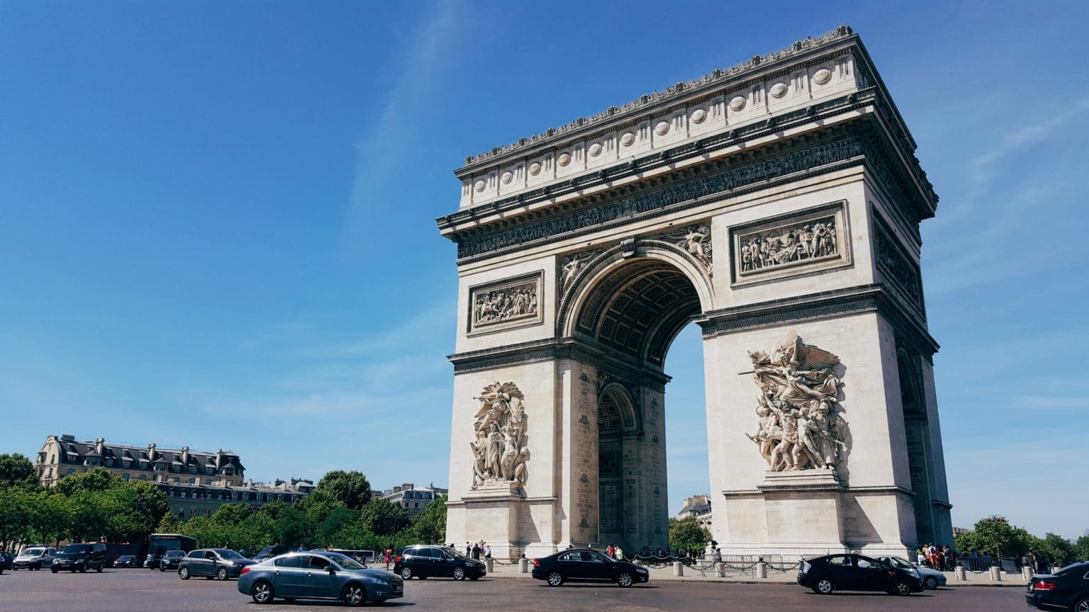
{"type": "Polygon", "coordinates": [[[1023,527],[1011,525],[1002,516],[980,519],[971,531],[953,536],[953,543],[962,556],[978,552],[992,558],[1020,559],[1031,551],[1044,554],[1053,565],[1089,560],[1089,536],[1072,542],[1049,531],[1038,538],[1023,527]]]}

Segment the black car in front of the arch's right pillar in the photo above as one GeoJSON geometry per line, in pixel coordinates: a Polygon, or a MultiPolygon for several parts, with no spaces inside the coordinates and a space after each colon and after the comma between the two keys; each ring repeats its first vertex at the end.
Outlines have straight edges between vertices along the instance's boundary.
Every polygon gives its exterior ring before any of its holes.
{"type": "Polygon", "coordinates": [[[861,554],[829,554],[804,561],[798,584],[820,595],[836,590],[877,590],[894,595],[922,591],[922,583],[907,570],[861,554]]]}

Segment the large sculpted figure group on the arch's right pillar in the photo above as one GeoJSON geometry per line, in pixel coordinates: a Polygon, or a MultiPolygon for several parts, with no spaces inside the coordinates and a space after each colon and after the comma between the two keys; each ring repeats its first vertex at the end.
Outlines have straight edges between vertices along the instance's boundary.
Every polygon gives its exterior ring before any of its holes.
{"type": "Polygon", "coordinates": [[[760,388],[759,429],[748,436],[771,472],[834,469],[843,454],[846,423],[837,411],[840,358],[804,344],[792,333],[769,353],[749,353],[760,388]]]}

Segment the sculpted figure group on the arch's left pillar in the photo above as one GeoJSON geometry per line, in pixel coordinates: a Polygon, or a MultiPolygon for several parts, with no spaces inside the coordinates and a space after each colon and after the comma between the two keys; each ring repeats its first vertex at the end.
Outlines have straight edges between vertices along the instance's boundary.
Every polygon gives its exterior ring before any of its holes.
{"type": "Polygon", "coordinates": [[[495,482],[525,482],[526,412],[522,391],[513,382],[494,382],[484,388],[480,409],[473,427],[473,488],[495,482]]]}

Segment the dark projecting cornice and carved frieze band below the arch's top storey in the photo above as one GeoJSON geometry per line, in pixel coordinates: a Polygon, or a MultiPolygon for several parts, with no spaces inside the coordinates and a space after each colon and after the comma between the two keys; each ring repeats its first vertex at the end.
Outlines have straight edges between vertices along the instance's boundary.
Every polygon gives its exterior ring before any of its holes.
{"type": "MultiPolygon", "coordinates": [[[[631,222],[636,217],[688,208],[706,201],[709,196],[720,198],[741,195],[754,188],[766,188],[776,184],[781,178],[796,180],[799,171],[818,174],[840,167],[865,163],[893,201],[905,203],[905,215],[914,221],[908,223],[909,231],[918,241],[917,228],[914,225],[933,216],[938,196],[926,180],[914,152],[903,150],[894,138],[890,138],[889,120],[883,115],[880,103],[877,105],[878,112],[864,114],[846,123],[780,138],[645,181],[613,186],[605,193],[533,208],[535,204],[550,204],[552,198],[577,194],[594,185],[638,175],[761,136],[780,134],[792,126],[810,124],[818,121],[825,111],[842,113],[872,106],[877,101],[877,93],[870,88],[819,102],[807,109],[770,115],[755,124],[633,159],[596,173],[440,217],[437,222],[444,234],[457,243],[460,260],[470,261],[524,248],[534,241],[576,236],[587,230],[596,231],[609,224],[631,222]],[[840,146],[836,147],[835,144],[840,146]],[[531,209],[527,210],[528,208],[531,209]],[[497,215],[505,216],[497,218],[497,215]]],[[[885,109],[884,112],[891,110],[885,109]]]]}

